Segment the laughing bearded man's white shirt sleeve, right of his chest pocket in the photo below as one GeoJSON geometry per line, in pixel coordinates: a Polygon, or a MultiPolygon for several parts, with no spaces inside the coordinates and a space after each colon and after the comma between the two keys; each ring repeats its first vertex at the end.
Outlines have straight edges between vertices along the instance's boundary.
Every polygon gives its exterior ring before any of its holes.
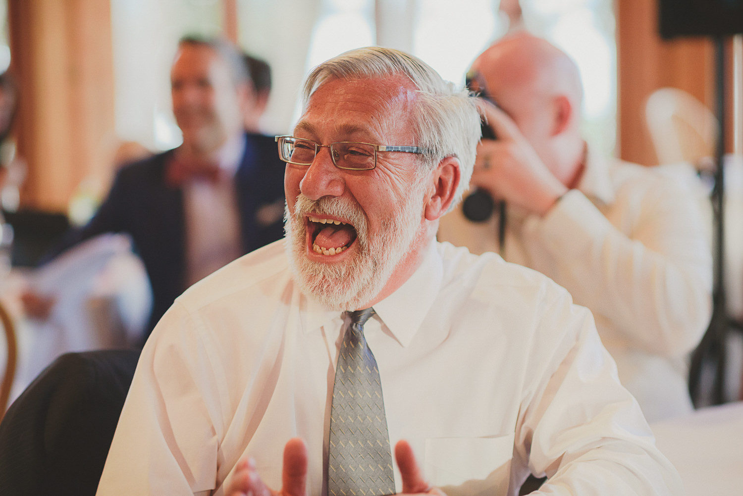
{"type": "Polygon", "coordinates": [[[682,495],[680,477],[620,385],[591,313],[569,299],[545,303],[534,336],[512,486],[520,486],[528,467],[549,477],[533,494],[682,495]]]}

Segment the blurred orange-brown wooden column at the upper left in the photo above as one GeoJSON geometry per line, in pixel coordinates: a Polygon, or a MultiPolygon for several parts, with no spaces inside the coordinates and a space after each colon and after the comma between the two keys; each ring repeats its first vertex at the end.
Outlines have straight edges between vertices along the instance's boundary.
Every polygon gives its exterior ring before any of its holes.
{"type": "Polygon", "coordinates": [[[111,7],[100,0],[8,0],[11,69],[20,83],[23,206],[66,211],[89,172],[107,168],[114,133],[111,7]]]}

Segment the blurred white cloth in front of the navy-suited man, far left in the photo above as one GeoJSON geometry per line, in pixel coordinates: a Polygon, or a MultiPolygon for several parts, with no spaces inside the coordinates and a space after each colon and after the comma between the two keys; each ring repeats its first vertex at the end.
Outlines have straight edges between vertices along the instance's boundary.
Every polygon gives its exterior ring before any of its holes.
{"type": "Polygon", "coordinates": [[[142,261],[131,247],[127,236],[101,235],[37,270],[11,274],[1,295],[16,322],[18,341],[10,402],[62,353],[140,345],[152,296],[142,261]],[[19,296],[25,289],[54,299],[48,319],[23,315],[19,296]]]}

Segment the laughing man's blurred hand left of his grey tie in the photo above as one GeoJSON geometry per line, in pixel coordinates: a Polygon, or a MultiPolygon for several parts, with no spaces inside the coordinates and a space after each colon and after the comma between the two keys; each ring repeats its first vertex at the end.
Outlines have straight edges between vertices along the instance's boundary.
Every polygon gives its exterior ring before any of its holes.
{"type": "Polygon", "coordinates": [[[307,446],[295,437],[284,447],[282,489],[274,491],[263,483],[253,458],[243,458],[236,466],[227,496],[305,496],[307,494],[307,446]]]}

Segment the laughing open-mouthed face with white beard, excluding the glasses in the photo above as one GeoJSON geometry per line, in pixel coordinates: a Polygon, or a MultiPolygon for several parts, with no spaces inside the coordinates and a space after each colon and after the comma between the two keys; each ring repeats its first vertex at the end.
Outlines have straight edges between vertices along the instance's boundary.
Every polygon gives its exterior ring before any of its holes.
{"type": "MultiPolygon", "coordinates": [[[[415,145],[412,84],[402,77],[334,79],[310,99],[294,130],[322,145],[415,145]]],[[[421,157],[378,152],[369,171],[337,169],[323,147],[311,166],[287,165],[290,261],[302,290],[337,310],[401,284],[424,244],[421,157]]]]}

